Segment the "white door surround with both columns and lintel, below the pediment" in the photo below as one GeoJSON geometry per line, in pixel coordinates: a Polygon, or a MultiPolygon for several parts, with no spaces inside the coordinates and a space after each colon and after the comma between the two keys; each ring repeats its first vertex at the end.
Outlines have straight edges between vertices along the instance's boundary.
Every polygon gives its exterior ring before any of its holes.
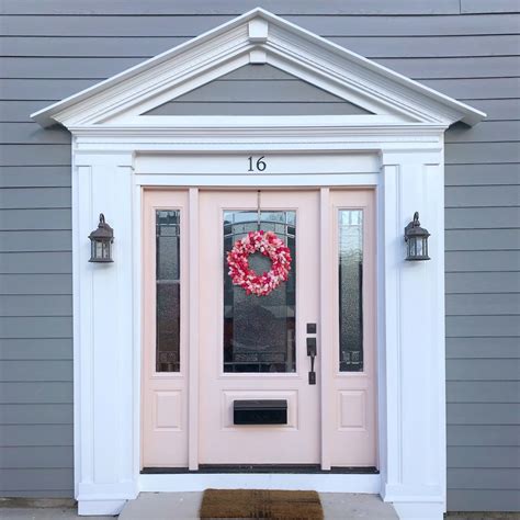
{"type": "MultiPolygon", "coordinates": [[[[260,137],[252,128],[236,128],[225,142],[215,142],[212,129],[201,128],[196,144],[179,144],[157,128],[117,139],[102,128],[75,134],[75,481],[80,513],[118,512],[140,490],[234,487],[239,478],[251,487],[378,493],[403,518],[441,518],[443,131],[402,127],[396,135],[395,128],[380,127],[360,138],[354,127],[343,127],[324,142],[320,128],[309,126],[294,137],[292,128],[276,126],[260,137]],[[247,173],[247,157],[256,152],[270,158],[268,174],[247,173]],[[375,186],[380,475],[139,475],[144,185],[192,186],[193,202],[193,186],[375,186]],[[404,227],[415,211],[431,233],[429,262],[404,260],[404,227]],[[114,228],[112,265],[88,262],[87,237],[101,212],[114,228]]],[[[196,226],[194,218],[191,225],[196,226]]],[[[196,246],[191,248],[196,255],[196,246]]]]}

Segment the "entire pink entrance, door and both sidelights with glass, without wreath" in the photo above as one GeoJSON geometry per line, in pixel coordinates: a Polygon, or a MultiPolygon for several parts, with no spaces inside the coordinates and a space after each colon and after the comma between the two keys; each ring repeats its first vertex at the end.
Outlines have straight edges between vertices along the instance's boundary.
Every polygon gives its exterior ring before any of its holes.
{"type": "MultiPolygon", "coordinates": [[[[369,190],[144,192],[143,467],[377,465],[373,201],[369,190]],[[234,285],[226,262],[258,229],[292,255],[267,296],[234,285]]],[[[271,268],[259,253],[249,264],[271,268]]]]}

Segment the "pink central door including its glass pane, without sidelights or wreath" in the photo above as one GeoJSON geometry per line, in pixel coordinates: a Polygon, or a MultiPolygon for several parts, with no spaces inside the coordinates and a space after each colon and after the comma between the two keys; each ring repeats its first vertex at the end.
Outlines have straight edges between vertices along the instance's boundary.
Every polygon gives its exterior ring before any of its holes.
{"type": "MultiPolygon", "coordinates": [[[[319,386],[309,384],[306,352],[306,338],[316,338],[307,335],[307,324],[312,329],[319,318],[318,203],[316,191],[201,193],[203,464],[319,462],[319,386]],[[292,257],[289,280],[265,296],[234,285],[226,261],[234,244],[257,230],[274,231],[292,257]],[[261,423],[270,421],[263,411],[258,423],[235,425],[236,402],[247,407],[250,400],[264,407],[286,403],[286,423],[261,423]]],[[[262,273],[271,262],[257,253],[249,267],[262,273]]],[[[319,357],[314,370],[319,371],[319,357]]]]}

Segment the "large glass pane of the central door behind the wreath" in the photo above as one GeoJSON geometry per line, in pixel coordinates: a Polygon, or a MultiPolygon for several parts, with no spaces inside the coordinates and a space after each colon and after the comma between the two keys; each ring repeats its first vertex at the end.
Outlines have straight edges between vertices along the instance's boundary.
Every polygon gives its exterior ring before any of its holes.
{"type": "MultiPolygon", "coordinates": [[[[289,280],[268,296],[247,295],[233,285],[224,260],[224,372],[295,372],[295,212],[261,212],[260,229],[273,230],[293,258],[289,280]],[[287,231],[291,223],[291,233],[287,231]]],[[[224,213],[224,255],[249,231],[258,230],[257,212],[224,213]]],[[[249,257],[257,272],[269,271],[261,253],[249,257]]]]}

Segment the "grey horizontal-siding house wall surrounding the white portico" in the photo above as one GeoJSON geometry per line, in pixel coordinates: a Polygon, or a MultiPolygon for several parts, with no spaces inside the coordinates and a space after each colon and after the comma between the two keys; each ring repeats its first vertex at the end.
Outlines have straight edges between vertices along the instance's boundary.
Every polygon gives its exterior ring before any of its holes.
{"type": "Polygon", "coordinates": [[[516,0],[4,0],[1,493],[72,494],[70,138],[29,114],[257,4],[488,113],[446,134],[448,507],[520,510],[516,0]]]}

